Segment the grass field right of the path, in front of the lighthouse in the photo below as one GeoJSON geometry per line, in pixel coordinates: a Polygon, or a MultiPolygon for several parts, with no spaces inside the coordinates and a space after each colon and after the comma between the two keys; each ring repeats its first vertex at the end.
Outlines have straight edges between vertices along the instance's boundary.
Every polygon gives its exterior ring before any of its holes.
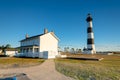
{"type": "MultiPolygon", "coordinates": [[[[72,56],[72,55],[70,55],[72,56]]],[[[120,56],[73,55],[104,58],[102,61],[55,59],[57,71],[76,80],[120,80],[120,56]]]]}

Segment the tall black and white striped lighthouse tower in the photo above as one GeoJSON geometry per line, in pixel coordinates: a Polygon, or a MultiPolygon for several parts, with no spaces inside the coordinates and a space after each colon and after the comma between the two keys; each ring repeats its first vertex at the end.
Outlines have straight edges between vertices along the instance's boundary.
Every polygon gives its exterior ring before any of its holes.
{"type": "Polygon", "coordinates": [[[94,33],[92,30],[92,17],[90,14],[87,15],[87,23],[88,23],[88,28],[87,28],[87,54],[95,54],[95,44],[94,44],[94,33]]]}

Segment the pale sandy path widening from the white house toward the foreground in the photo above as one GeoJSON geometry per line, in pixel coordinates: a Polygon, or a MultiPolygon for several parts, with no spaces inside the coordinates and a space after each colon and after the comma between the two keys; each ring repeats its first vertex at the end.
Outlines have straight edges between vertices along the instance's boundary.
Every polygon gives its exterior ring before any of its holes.
{"type": "Polygon", "coordinates": [[[46,60],[39,66],[14,69],[0,69],[0,74],[25,73],[31,80],[74,80],[55,70],[53,60],[46,60]]]}

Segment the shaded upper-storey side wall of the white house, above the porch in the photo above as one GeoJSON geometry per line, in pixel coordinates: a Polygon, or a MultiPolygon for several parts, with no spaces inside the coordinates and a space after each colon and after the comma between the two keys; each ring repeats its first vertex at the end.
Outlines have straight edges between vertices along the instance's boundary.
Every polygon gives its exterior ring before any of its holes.
{"type": "Polygon", "coordinates": [[[39,37],[37,38],[33,38],[33,39],[28,39],[28,40],[25,40],[25,41],[22,41],[21,42],[21,46],[28,46],[28,45],[39,45],[39,37]]]}

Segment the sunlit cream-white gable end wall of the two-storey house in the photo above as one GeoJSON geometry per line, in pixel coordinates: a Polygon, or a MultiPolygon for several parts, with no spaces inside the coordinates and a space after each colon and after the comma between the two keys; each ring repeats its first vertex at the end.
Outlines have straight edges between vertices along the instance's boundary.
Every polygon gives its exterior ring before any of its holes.
{"type": "Polygon", "coordinates": [[[51,33],[40,36],[40,52],[45,51],[58,54],[58,40],[51,33]]]}

